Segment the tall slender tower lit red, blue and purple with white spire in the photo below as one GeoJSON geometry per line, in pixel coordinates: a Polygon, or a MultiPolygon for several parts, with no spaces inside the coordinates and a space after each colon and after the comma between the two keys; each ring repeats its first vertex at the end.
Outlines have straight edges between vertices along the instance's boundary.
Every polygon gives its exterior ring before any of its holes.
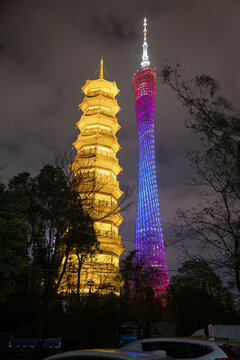
{"type": "Polygon", "coordinates": [[[135,250],[137,259],[151,267],[152,288],[164,295],[169,284],[162,233],[155,165],[154,114],[156,69],[147,53],[147,19],[143,22],[141,69],[134,76],[134,95],[138,129],[138,197],[135,250]]]}

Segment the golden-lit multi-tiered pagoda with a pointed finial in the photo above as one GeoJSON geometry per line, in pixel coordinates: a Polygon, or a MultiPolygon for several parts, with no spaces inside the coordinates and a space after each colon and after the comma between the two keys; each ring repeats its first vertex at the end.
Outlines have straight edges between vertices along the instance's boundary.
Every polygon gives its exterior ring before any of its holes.
{"type": "MultiPolygon", "coordinates": [[[[84,211],[94,221],[100,251],[89,256],[82,266],[80,293],[99,292],[99,289],[108,293],[114,291],[119,257],[124,250],[118,234],[123,221],[118,199],[123,192],[117,180],[122,168],[116,156],[121,149],[116,137],[121,128],[116,118],[120,107],[115,99],[119,89],[115,82],[104,79],[103,59],[99,78],[87,80],[82,91],[85,97],[79,109],[83,114],[76,124],[80,134],[73,143],[77,154],[72,170],[75,177],[80,177],[78,191],[84,211]]],[[[74,254],[70,261],[72,264],[76,261],[74,254]]],[[[76,283],[74,275],[71,278],[71,283],[76,283]]]]}

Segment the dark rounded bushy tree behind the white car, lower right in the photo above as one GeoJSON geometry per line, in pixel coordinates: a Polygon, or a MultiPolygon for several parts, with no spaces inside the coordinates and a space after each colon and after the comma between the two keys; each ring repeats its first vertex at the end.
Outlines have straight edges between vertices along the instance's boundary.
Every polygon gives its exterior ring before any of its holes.
{"type": "Polygon", "coordinates": [[[189,336],[210,323],[238,321],[233,294],[204,260],[185,261],[171,278],[167,309],[181,335],[189,336]]]}

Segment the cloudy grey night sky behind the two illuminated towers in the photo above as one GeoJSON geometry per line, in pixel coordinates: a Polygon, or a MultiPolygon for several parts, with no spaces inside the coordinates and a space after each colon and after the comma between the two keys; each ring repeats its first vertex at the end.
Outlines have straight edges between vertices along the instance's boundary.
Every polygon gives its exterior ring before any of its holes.
{"type": "MultiPolygon", "coordinates": [[[[140,68],[142,20],[148,20],[148,51],[158,71],[178,61],[183,77],[207,73],[238,106],[240,94],[240,1],[237,0],[2,0],[0,2],[1,181],[28,171],[33,176],[56,151],[70,151],[81,116],[81,87],[94,79],[103,56],[120,89],[117,136],[121,186],[134,187],[138,145],[133,76],[140,68]]],[[[195,137],[184,127],[185,110],[161,79],[156,92],[156,163],[163,232],[178,207],[198,202],[185,183],[192,169],[185,153],[195,137]]],[[[125,214],[123,245],[134,247],[136,204],[125,214]]],[[[193,244],[194,246],[194,244],[193,244]]],[[[178,253],[167,248],[170,270],[178,253]]]]}

